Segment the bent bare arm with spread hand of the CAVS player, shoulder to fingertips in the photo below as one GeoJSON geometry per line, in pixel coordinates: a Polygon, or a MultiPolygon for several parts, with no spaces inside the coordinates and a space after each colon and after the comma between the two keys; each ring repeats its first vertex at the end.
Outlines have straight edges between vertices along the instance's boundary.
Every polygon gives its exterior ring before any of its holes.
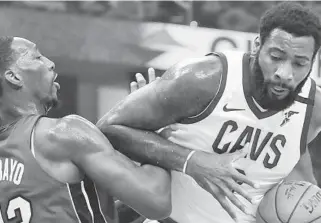
{"type": "MultiPolygon", "coordinates": [[[[222,62],[218,57],[179,63],[166,71],[161,79],[126,97],[101,118],[97,126],[117,150],[130,158],[183,172],[191,150],[160,137],[154,131],[201,113],[215,97],[222,73],[222,62]]],[[[210,192],[232,217],[235,212],[224,195],[245,211],[231,190],[250,200],[235,180],[254,185],[232,166],[233,161],[241,156],[198,151],[186,169],[186,173],[210,192]]]]}

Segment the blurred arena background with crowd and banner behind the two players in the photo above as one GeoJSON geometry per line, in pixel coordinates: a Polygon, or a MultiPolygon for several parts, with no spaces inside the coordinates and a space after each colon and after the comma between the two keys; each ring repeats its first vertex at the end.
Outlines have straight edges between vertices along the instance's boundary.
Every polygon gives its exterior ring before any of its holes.
{"type": "MultiPolygon", "coordinates": [[[[276,3],[0,1],[0,31],[35,42],[56,63],[62,106],[51,117],[79,114],[95,123],[128,95],[136,72],[154,67],[159,76],[186,58],[251,50],[260,16],[276,3]]],[[[321,15],[321,2],[300,3],[321,15]]],[[[312,76],[320,86],[319,55],[312,76]]],[[[121,223],[137,217],[119,211],[121,223]]]]}

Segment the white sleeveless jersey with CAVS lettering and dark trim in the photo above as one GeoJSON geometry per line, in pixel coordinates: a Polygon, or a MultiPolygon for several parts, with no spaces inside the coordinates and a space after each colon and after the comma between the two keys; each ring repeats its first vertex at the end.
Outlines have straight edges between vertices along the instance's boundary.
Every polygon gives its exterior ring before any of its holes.
{"type": "MultiPolygon", "coordinates": [[[[309,78],[289,108],[262,111],[249,92],[249,55],[217,55],[225,66],[215,98],[198,116],[167,127],[168,139],[194,150],[218,154],[235,152],[248,142],[248,148],[244,148],[247,157],[238,162],[238,168],[261,187],[242,185],[256,203],[243,198],[241,201],[253,216],[238,211],[238,219],[255,222],[256,209],[265,192],[292,171],[305,151],[315,82],[309,78]]],[[[172,172],[172,202],[171,218],[178,223],[234,223],[210,193],[191,177],[176,171],[172,172]]]]}

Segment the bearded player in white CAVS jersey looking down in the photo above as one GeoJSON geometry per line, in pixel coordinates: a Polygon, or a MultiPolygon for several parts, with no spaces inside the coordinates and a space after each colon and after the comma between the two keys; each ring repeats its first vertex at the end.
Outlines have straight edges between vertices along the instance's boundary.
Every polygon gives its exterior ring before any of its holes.
{"type": "MultiPolygon", "coordinates": [[[[320,48],[318,17],[297,3],[281,3],[264,14],[259,34],[254,55],[211,53],[178,63],[97,123],[119,151],[173,170],[174,222],[255,222],[266,191],[321,136],[321,90],[309,77],[320,48]],[[154,133],[160,128],[163,137],[154,133]],[[204,158],[240,148],[247,155],[235,167],[260,184],[241,185],[252,202],[235,193],[243,212],[220,197],[224,179],[208,186],[215,170],[204,158]],[[184,149],[189,155],[182,159],[184,149]],[[175,171],[179,165],[186,174],[175,171]]],[[[310,153],[321,185],[321,148],[310,153]]]]}

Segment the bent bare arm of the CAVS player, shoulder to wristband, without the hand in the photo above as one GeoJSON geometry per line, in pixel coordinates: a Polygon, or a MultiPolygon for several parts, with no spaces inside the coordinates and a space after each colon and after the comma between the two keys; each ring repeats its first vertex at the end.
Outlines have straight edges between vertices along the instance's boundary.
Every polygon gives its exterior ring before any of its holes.
{"type": "Polygon", "coordinates": [[[222,63],[216,56],[179,63],[126,97],[97,126],[130,158],[182,171],[190,150],[154,131],[203,111],[218,90],[221,73],[222,63]]]}

